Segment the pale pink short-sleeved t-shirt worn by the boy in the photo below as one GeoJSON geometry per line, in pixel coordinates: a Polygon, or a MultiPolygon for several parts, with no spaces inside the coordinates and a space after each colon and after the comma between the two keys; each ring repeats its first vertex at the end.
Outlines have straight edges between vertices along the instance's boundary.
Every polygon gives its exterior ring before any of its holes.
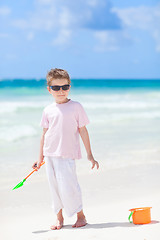
{"type": "Polygon", "coordinates": [[[47,106],[40,123],[43,128],[48,128],[44,139],[44,156],[80,159],[78,129],[88,123],[88,117],[78,102],[70,100],[47,106]]]}

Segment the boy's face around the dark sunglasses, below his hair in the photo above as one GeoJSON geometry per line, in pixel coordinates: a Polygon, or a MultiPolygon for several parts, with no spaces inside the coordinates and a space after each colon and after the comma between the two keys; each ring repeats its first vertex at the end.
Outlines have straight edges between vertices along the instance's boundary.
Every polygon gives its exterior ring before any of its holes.
{"type": "MultiPolygon", "coordinates": [[[[68,85],[68,81],[65,78],[61,80],[54,79],[51,82],[51,86],[63,86],[63,85],[68,85]]],[[[63,90],[62,88],[60,88],[59,91],[54,91],[50,87],[47,87],[47,89],[49,93],[52,94],[52,96],[54,97],[56,103],[65,103],[67,101],[70,87],[68,90],[63,90]]]]}

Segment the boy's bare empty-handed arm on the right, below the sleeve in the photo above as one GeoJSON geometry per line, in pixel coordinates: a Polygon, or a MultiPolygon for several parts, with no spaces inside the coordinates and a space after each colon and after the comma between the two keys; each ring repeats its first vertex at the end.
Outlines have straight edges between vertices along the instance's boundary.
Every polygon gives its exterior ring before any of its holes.
{"type": "Polygon", "coordinates": [[[84,146],[85,146],[85,149],[86,149],[86,152],[87,152],[87,158],[92,163],[92,169],[95,167],[95,165],[97,166],[97,169],[98,169],[99,164],[94,159],[94,157],[92,155],[91,145],[90,145],[90,140],[89,140],[89,134],[88,134],[87,128],[85,126],[79,128],[79,134],[80,134],[80,136],[82,138],[82,141],[84,143],[84,146]]]}

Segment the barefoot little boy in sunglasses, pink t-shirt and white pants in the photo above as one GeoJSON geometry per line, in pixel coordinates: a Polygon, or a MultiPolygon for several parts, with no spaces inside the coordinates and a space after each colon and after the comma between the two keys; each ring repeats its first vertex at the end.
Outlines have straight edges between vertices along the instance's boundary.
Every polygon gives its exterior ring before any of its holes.
{"type": "Polygon", "coordinates": [[[55,68],[47,74],[47,89],[55,102],[43,111],[39,160],[32,166],[35,168],[37,164],[39,169],[44,158],[52,207],[57,214],[56,224],[51,226],[52,230],[63,227],[63,208],[68,216],[77,214],[77,221],[72,227],[82,227],[87,224],[75,169],[75,159],[81,158],[79,135],[92,169],[95,166],[99,168],[98,162],[92,155],[86,129],[89,123],[88,117],[80,103],[68,99],[70,83],[70,77],[65,70],[55,68]]]}

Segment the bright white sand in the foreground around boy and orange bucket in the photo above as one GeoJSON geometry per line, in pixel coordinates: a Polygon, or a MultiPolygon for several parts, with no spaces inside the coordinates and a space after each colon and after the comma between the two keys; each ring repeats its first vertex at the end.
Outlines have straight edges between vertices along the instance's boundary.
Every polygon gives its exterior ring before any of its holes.
{"type": "Polygon", "coordinates": [[[157,164],[108,171],[101,168],[98,172],[88,170],[88,175],[79,175],[88,225],[73,229],[76,216],[68,218],[64,213],[65,226],[55,231],[49,228],[55,216],[50,207],[44,169],[18,190],[11,191],[18,182],[8,182],[1,187],[0,238],[159,240],[159,173],[160,165],[157,164]],[[128,222],[130,208],[147,206],[152,207],[150,224],[134,225],[128,222]]]}

